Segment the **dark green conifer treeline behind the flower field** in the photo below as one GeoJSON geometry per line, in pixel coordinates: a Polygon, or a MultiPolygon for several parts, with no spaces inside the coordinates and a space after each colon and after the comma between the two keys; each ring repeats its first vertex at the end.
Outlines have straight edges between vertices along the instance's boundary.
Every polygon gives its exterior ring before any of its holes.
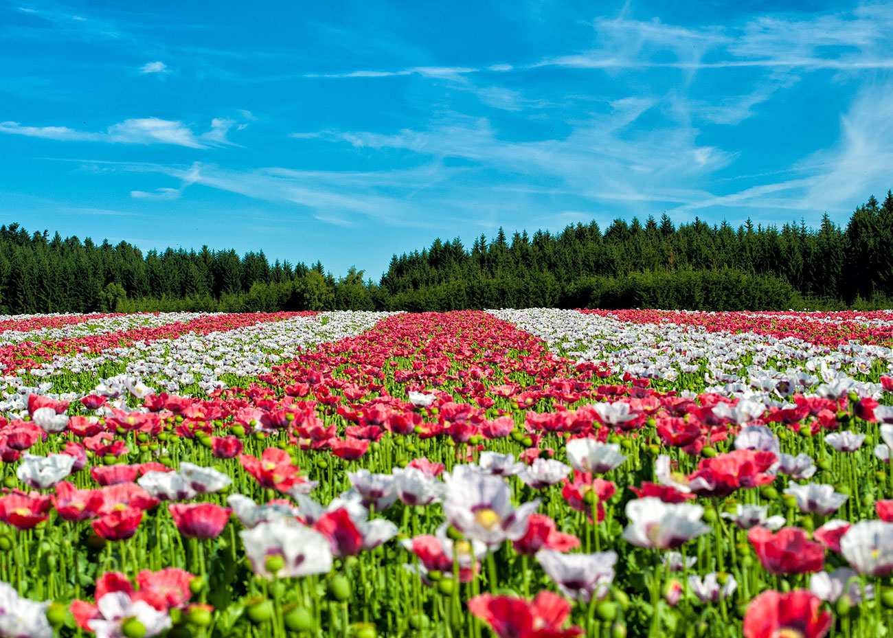
{"type": "Polygon", "coordinates": [[[394,255],[379,282],[317,261],[272,264],[263,252],[148,251],[19,224],[0,227],[0,311],[280,311],[657,307],[772,310],[889,307],[893,193],[845,228],[825,215],[780,228],[704,221],[593,221],[533,236],[500,229],[394,255]]]}

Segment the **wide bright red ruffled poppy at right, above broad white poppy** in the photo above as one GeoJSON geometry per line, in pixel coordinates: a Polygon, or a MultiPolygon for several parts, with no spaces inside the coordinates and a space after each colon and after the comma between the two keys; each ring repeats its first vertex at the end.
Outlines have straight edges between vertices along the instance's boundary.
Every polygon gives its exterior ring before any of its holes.
{"type": "Polygon", "coordinates": [[[725,498],[739,488],[772,483],[775,476],[767,474],[766,470],[776,460],[772,452],[735,450],[702,460],[697,465],[697,472],[689,476],[689,483],[694,481],[692,487],[699,496],[725,498]]]}

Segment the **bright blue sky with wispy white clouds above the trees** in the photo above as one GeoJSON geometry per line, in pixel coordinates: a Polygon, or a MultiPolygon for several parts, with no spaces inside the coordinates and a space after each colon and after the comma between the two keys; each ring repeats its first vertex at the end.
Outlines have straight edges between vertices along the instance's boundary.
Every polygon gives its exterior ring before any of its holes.
{"type": "Polygon", "coordinates": [[[891,6],[0,0],[0,210],[373,278],[499,226],[846,222],[893,186],[891,6]]]}

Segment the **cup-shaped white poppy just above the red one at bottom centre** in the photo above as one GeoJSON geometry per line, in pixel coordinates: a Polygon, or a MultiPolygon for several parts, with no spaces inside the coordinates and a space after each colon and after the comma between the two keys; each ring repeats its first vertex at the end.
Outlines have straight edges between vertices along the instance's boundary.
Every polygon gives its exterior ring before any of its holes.
{"type": "Polygon", "coordinates": [[[560,551],[542,550],[537,560],[549,578],[555,581],[566,596],[588,603],[605,597],[613,583],[617,554],[602,551],[595,554],[563,554],[560,551]]]}

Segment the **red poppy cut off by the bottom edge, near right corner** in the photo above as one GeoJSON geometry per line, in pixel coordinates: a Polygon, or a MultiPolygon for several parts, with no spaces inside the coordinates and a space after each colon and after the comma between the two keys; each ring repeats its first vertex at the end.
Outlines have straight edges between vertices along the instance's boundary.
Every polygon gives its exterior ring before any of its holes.
{"type": "Polygon", "coordinates": [[[747,606],[745,638],[822,638],[833,619],[821,608],[822,599],[805,590],[763,592],[747,606]]]}

